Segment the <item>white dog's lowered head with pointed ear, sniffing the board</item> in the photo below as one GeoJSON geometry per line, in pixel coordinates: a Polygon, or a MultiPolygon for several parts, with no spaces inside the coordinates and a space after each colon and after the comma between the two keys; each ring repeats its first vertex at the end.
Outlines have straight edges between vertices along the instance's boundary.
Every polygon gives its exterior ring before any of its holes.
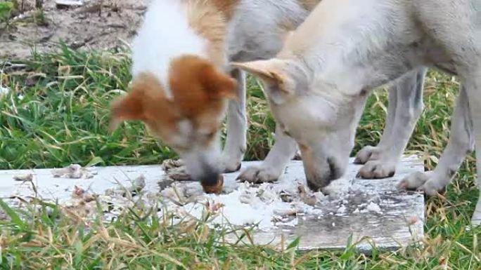
{"type": "Polygon", "coordinates": [[[276,123],[300,146],[311,189],[322,189],[345,173],[365,97],[352,97],[319,83],[295,60],[232,65],[262,80],[276,123]]]}

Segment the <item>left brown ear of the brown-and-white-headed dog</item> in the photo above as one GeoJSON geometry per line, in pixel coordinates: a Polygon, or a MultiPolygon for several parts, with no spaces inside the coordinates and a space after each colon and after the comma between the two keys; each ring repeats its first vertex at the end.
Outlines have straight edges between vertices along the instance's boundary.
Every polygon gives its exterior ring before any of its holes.
{"type": "Polygon", "coordinates": [[[143,102],[139,91],[132,91],[117,97],[111,105],[110,131],[114,131],[122,121],[145,120],[143,102]]]}

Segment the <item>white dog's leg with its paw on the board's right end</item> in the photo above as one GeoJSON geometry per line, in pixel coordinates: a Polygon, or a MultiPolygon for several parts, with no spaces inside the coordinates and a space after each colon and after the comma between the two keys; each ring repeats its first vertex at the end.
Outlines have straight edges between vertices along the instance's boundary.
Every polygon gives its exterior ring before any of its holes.
{"type": "MultiPolygon", "coordinates": [[[[474,103],[473,106],[475,106],[474,103]]],[[[463,163],[466,154],[473,151],[474,137],[471,119],[470,102],[468,102],[468,95],[463,88],[454,109],[449,142],[435,170],[427,173],[413,173],[402,180],[399,187],[420,189],[430,196],[443,191],[463,163]]],[[[478,142],[478,144],[480,143],[481,141],[478,142]]],[[[480,168],[479,165],[478,168],[480,168]]]]}

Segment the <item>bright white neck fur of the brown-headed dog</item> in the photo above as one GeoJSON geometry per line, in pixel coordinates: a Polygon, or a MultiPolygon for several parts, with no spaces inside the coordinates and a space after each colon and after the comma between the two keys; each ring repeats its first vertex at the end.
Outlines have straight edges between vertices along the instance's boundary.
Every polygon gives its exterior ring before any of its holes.
{"type": "Polygon", "coordinates": [[[132,46],[132,75],[152,72],[169,90],[169,67],[181,55],[205,57],[207,41],[188,25],[186,8],[178,0],[154,0],[150,4],[132,46]]]}

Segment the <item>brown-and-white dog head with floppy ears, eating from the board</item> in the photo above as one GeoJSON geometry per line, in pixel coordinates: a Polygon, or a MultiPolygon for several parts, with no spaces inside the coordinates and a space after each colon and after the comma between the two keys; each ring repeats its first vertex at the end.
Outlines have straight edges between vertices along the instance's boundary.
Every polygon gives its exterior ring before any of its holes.
{"type": "Polygon", "coordinates": [[[111,128],[143,121],[179,153],[191,177],[213,186],[222,170],[219,130],[227,101],[237,98],[236,81],[195,56],[173,60],[168,74],[167,81],[148,72],[136,76],[112,104],[111,128]]]}

